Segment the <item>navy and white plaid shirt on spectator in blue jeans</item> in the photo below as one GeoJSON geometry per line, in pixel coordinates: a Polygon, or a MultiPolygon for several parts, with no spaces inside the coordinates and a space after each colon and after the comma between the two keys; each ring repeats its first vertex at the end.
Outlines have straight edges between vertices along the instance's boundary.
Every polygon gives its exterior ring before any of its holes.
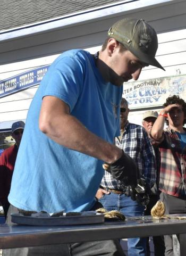
{"type": "MultiPolygon", "coordinates": [[[[128,122],[121,142],[115,138],[115,144],[131,156],[137,163],[140,174],[146,178],[147,183],[152,187],[156,181],[155,157],[146,130],[142,126],[128,122]]],[[[100,185],[111,189],[122,189],[121,181],[114,179],[107,171],[105,171],[100,185]]]]}

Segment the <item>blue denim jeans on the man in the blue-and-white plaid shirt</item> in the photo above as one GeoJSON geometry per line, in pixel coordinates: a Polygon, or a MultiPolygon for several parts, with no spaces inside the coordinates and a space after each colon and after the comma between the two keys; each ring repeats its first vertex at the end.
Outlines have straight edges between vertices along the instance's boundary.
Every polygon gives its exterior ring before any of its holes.
{"type": "MultiPolygon", "coordinates": [[[[145,207],[133,201],[131,197],[124,194],[104,194],[99,202],[103,204],[108,211],[121,211],[126,217],[142,216],[145,207]]],[[[129,238],[128,255],[129,256],[146,256],[146,238],[129,238]]]]}

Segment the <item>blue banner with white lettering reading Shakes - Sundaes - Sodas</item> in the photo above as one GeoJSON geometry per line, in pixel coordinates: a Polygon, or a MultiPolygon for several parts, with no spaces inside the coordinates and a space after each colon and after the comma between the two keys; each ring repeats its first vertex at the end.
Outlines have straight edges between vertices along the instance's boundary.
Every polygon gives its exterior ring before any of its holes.
{"type": "Polygon", "coordinates": [[[31,86],[38,85],[43,79],[49,66],[50,65],[45,65],[0,81],[0,98],[13,93],[18,93],[31,86]]]}

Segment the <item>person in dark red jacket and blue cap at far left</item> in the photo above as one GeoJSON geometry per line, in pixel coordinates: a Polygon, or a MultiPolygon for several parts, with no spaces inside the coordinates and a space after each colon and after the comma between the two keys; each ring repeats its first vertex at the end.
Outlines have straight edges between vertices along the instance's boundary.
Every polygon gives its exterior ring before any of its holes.
{"type": "Polygon", "coordinates": [[[12,137],[15,144],[3,151],[0,156],[0,202],[2,203],[5,218],[9,209],[10,203],[8,195],[10,192],[11,180],[15,166],[18,148],[21,142],[24,130],[24,122],[18,121],[12,124],[12,137]]]}

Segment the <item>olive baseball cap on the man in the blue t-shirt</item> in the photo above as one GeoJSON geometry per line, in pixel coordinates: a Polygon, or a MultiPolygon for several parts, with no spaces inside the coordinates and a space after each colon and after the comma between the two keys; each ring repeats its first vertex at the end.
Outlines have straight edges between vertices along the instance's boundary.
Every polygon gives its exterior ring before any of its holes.
{"type": "Polygon", "coordinates": [[[155,59],[158,48],[156,31],[146,21],[124,18],[113,24],[108,36],[122,43],[141,62],[165,70],[155,59]]]}

